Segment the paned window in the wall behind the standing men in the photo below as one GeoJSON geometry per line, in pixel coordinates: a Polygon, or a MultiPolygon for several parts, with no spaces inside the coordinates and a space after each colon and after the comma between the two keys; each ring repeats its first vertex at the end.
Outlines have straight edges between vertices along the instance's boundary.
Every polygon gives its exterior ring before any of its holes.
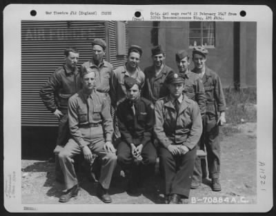
{"type": "Polygon", "coordinates": [[[215,22],[190,22],[189,48],[194,46],[215,48],[215,22]]]}

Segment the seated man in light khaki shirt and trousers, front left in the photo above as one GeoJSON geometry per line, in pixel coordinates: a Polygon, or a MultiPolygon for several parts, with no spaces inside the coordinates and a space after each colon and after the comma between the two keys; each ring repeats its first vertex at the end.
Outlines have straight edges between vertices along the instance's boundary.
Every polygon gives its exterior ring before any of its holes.
{"type": "Polygon", "coordinates": [[[77,196],[79,186],[72,157],[81,153],[88,162],[92,160],[92,153],[101,159],[97,196],[103,202],[112,202],[108,188],[117,157],[111,143],[113,126],[110,105],[106,97],[95,90],[97,71],[97,67],[83,68],[81,74],[83,88],[69,99],[69,126],[72,139],[69,139],[59,153],[67,191],[61,195],[59,202],[68,202],[71,197],[77,196]]]}

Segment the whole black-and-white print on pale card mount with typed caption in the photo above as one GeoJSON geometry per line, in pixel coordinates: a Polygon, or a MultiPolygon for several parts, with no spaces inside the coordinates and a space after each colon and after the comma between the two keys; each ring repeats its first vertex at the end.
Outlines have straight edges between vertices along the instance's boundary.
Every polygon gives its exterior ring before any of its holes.
{"type": "Polygon", "coordinates": [[[17,97],[4,94],[4,155],[19,157],[4,161],[4,197],[17,200],[14,211],[246,212],[262,197],[269,210],[265,6],[257,18],[255,8],[238,6],[126,7],[125,17],[119,7],[61,8],[23,8],[29,14],[18,17],[17,37],[4,23],[19,60],[5,64],[4,47],[4,91],[17,97]]]}

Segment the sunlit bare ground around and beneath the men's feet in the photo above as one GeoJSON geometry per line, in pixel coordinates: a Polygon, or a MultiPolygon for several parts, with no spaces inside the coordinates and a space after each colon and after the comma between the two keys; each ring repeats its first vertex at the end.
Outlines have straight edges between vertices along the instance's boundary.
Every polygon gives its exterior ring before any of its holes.
{"type": "MultiPolygon", "coordinates": [[[[190,204],[256,204],[256,123],[221,127],[221,187],[210,189],[204,179],[198,189],[190,190],[190,204]]],[[[55,164],[48,161],[22,160],[22,203],[60,204],[63,185],[55,181],[55,164]]],[[[158,170],[158,168],[157,168],[158,170]]],[[[95,196],[97,183],[79,174],[81,190],[68,204],[103,204],[95,196]]],[[[116,170],[110,194],[112,204],[164,204],[163,181],[158,172],[141,188],[142,195],[126,193],[126,179],[116,170]]]]}

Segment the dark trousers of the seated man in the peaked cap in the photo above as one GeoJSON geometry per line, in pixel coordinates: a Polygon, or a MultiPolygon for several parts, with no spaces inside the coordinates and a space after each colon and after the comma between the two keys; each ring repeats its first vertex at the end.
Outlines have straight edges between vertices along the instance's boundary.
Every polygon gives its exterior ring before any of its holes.
{"type": "Polygon", "coordinates": [[[172,155],[167,148],[159,148],[161,172],[165,177],[166,195],[178,194],[188,198],[192,182],[197,149],[193,148],[185,155],[172,155]]]}

